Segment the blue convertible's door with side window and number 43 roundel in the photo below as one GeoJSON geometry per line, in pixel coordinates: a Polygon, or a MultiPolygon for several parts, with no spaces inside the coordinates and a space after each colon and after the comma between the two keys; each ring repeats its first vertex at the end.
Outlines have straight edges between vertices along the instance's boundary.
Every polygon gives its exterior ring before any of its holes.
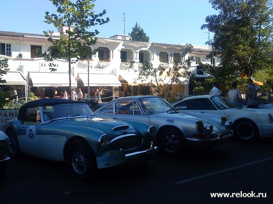
{"type": "Polygon", "coordinates": [[[28,108],[16,132],[22,153],[42,157],[43,149],[40,140],[41,125],[39,107],[28,108]]]}

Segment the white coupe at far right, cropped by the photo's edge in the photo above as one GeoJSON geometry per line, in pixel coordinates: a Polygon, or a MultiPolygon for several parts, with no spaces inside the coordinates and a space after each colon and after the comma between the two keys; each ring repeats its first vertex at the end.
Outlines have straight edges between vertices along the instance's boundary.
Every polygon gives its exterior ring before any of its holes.
{"type": "Polygon", "coordinates": [[[173,103],[182,111],[225,115],[232,121],[235,137],[253,140],[257,137],[273,137],[273,114],[266,109],[236,107],[222,96],[194,96],[173,103]]]}

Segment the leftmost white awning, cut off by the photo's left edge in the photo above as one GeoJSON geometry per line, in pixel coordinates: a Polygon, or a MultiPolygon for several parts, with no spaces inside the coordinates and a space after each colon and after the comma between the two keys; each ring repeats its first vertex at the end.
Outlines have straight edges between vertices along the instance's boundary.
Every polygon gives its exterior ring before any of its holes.
{"type": "Polygon", "coordinates": [[[6,85],[26,85],[27,80],[23,77],[20,71],[7,71],[1,76],[2,80],[6,81],[6,85]]]}

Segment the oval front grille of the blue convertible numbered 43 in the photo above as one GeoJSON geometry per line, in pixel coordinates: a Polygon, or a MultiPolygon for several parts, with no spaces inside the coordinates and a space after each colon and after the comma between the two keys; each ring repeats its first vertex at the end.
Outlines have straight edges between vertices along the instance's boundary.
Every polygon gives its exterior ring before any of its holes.
{"type": "Polygon", "coordinates": [[[127,134],[114,138],[110,142],[110,147],[114,150],[131,150],[139,147],[143,143],[138,135],[127,134]]]}

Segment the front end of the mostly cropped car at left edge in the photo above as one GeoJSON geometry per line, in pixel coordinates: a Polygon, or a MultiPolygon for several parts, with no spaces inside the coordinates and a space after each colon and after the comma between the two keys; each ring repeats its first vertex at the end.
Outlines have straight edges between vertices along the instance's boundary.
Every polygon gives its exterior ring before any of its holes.
{"type": "Polygon", "coordinates": [[[7,160],[10,159],[8,153],[9,140],[6,134],[0,131],[0,178],[2,178],[6,172],[7,160]]]}

